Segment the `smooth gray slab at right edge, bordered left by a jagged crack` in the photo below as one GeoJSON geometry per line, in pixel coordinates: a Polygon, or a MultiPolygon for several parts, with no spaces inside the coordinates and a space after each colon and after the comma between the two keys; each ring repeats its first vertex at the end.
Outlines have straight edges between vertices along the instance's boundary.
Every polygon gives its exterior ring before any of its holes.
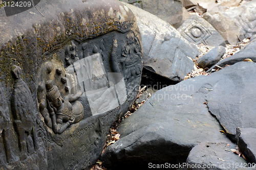
{"type": "Polygon", "coordinates": [[[216,116],[232,140],[235,140],[237,127],[256,128],[253,119],[256,98],[251,87],[256,83],[255,65],[254,62],[239,62],[210,75],[216,83],[207,96],[209,112],[216,116]]]}

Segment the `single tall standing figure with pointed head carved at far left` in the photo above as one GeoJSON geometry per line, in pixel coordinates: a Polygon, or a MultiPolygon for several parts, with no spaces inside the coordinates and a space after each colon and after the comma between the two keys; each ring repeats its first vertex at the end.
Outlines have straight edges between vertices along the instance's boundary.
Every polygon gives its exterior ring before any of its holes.
{"type": "Polygon", "coordinates": [[[12,74],[15,84],[11,96],[11,110],[18,136],[19,149],[25,159],[26,155],[33,154],[38,148],[36,135],[37,112],[30,89],[21,78],[22,69],[14,65],[12,74]]]}

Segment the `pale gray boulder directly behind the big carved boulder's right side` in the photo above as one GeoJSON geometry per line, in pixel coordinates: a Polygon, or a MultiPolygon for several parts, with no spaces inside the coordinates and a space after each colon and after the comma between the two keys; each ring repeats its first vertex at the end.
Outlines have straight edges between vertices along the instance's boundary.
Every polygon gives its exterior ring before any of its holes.
{"type": "Polygon", "coordinates": [[[173,81],[182,81],[194,69],[197,47],[157,16],[125,4],[136,16],[142,36],[143,67],[173,81]]]}

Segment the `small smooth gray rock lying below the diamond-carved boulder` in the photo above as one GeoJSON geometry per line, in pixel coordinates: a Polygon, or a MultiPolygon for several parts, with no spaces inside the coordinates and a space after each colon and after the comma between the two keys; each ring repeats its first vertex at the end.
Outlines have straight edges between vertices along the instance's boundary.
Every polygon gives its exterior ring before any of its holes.
{"type": "Polygon", "coordinates": [[[212,65],[220,61],[221,57],[225,54],[225,52],[226,49],[224,46],[215,47],[198,59],[198,66],[201,68],[210,68],[212,65]]]}

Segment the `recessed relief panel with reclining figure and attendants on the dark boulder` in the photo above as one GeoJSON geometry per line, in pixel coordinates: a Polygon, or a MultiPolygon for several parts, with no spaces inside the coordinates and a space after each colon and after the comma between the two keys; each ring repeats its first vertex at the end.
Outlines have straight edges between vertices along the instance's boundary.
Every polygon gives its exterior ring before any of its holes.
{"type": "Polygon", "coordinates": [[[139,78],[142,69],[138,38],[133,32],[122,34],[125,38],[118,44],[116,36],[108,36],[95,41],[72,40],[60,50],[65,53],[58,53],[65,56],[64,65],[55,61],[42,64],[37,88],[39,110],[55,134],[86,118],[83,115],[118,108],[136,88],[132,81],[139,78]]]}

